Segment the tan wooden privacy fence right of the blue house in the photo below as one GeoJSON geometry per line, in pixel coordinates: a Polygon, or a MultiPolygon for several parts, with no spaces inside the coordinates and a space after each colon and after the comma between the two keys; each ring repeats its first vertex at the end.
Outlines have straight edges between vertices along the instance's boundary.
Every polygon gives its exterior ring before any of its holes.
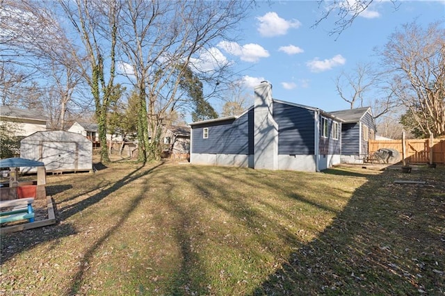
{"type": "MultiPolygon", "coordinates": [[[[409,163],[429,163],[432,150],[432,163],[445,163],[445,139],[405,140],[406,159],[409,163]]],[[[403,155],[402,140],[369,140],[369,155],[382,148],[396,149],[403,155]]]]}

